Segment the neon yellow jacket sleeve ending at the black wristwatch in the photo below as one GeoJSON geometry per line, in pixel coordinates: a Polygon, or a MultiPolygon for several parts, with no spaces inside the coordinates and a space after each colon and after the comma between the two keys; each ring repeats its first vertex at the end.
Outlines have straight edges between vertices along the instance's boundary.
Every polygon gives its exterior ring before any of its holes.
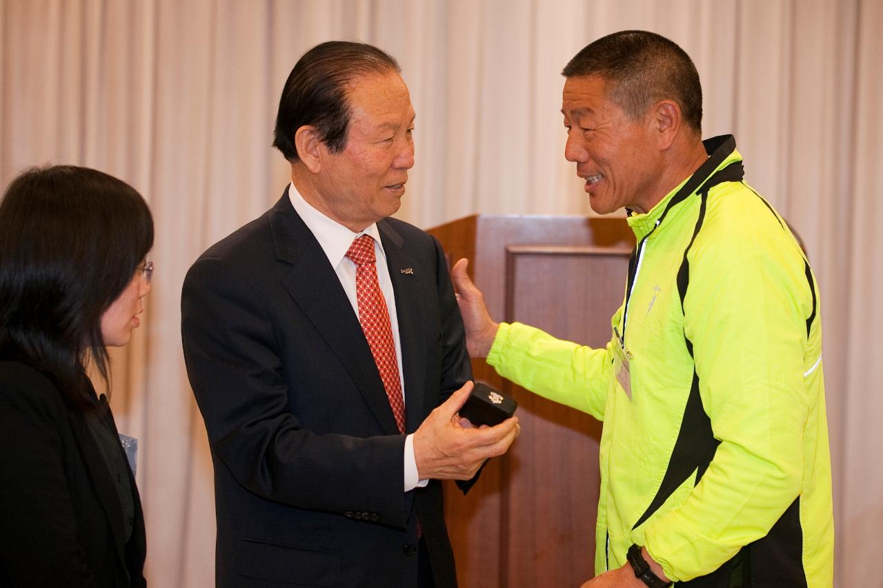
{"type": "Polygon", "coordinates": [[[811,292],[796,245],[760,208],[764,217],[691,251],[684,334],[720,445],[683,505],[645,531],[648,552],[679,581],[764,537],[800,492],[811,292]]]}

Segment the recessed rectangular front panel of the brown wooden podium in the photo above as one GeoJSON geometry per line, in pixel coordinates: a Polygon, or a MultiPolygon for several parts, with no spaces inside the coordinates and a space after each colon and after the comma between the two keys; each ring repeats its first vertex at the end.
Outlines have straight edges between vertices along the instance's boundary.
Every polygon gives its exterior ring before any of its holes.
{"type": "MultiPolygon", "coordinates": [[[[630,250],[509,248],[507,320],[601,346],[622,302],[630,250]],[[616,284],[616,287],[611,287],[616,284]]],[[[593,575],[600,422],[508,384],[522,434],[506,460],[505,585],[576,586],[593,575]]]]}

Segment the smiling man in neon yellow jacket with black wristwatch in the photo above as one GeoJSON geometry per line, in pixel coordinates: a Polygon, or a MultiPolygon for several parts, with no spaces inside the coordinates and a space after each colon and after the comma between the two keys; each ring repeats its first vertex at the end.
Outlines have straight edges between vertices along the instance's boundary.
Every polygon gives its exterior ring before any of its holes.
{"type": "Polygon", "coordinates": [[[819,290],[788,225],[701,140],[690,57],[640,31],[565,67],[565,156],[638,237],[605,349],[498,324],[454,268],[473,357],[604,422],[602,586],[833,584],[819,290]]]}

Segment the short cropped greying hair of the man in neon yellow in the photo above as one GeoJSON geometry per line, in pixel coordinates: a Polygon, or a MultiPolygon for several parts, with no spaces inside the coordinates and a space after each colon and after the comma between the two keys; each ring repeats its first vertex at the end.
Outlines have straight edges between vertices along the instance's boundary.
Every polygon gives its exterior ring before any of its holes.
{"type": "Polygon", "coordinates": [[[684,120],[702,132],[702,85],[690,56],[660,34],[620,31],[592,41],[564,66],[565,78],[597,75],[609,98],[631,118],[653,102],[674,100],[684,120]]]}

